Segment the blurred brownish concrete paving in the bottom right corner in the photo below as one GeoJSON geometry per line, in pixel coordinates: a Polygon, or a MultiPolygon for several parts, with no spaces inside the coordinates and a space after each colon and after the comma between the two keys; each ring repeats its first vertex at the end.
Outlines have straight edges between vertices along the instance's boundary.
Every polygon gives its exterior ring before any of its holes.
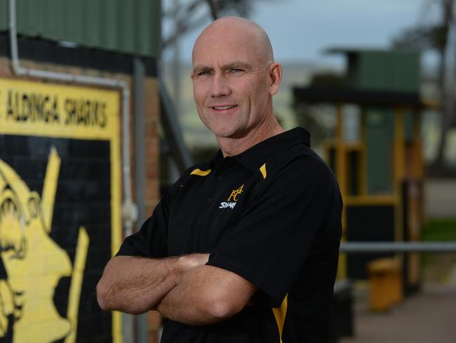
{"type": "Polygon", "coordinates": [[[387,313],[355,306],[355,337],[340,343],[456,343],[456,286],[427,285],[387,313]]]}

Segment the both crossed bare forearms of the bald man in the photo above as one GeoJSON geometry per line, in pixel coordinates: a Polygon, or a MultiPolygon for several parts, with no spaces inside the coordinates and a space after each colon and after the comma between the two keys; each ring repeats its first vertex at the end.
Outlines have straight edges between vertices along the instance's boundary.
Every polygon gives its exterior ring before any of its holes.
{"type": "Polygon", "coordinates": [[[97,285],[98,303],[104,310],[132,314],[156,309],[189,325],[207,325],[234,316],[257,288],[236,273],[205,266],[208,257],[114,257],[97,285]]]}

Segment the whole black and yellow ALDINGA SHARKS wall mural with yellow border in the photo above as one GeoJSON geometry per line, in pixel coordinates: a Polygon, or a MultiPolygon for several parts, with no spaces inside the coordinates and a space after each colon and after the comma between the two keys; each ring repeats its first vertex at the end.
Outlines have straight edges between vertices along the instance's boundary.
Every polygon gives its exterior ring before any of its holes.
{"type": "MultiPolygon", "coordinates": [[[[118,91],[0,79],[0,340],[76,342],[81,295],[95,292],[84,289],[90,245],[103,244],[91,235],[107,228],[101,237],[111,254],[121,242],[119,102],[118,91]],[[74,147],[83,147],[81,153],[74,147]],[[43,175],[36,161],[46,162],[43,175]],[[82,223],[62,215],[53,222],[57,207],[90,214],[95,196],[97,206],[107,202],[110,209],[107,219],[98,219],[100,228],[84,216],[82,223]],[[73,203],[74,209],[68,205],[73,203]],[[73,227],[71,250],[55,237],[72,236],[73,227]],[[69,287],[59,303],[55,292],[62,278],[69,287]]],[[[114,313],[115,342],[121,341],[120,323],[114,313]]]]}

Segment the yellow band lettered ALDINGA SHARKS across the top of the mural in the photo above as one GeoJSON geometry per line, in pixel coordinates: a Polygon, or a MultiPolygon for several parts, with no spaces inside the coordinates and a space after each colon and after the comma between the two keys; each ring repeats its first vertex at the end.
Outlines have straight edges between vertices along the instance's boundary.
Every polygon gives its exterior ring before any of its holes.
{"type": "Polygon", "coordinates": [[[119,101],[118,91],[0,79],[1,133],[114,138],[119,101]]]}

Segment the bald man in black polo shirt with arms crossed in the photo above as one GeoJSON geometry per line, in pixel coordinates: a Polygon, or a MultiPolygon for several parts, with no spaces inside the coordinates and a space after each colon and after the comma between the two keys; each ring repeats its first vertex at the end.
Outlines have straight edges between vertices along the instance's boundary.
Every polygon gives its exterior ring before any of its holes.
{"type": "Polygon", "coordinates": [[[102,309],[165,318],[161,342],[328,342],[342,200],[309,133],[284,131],[262,28],[215,20],[192,53],[220,151],[185,171],[98,283],[102,309]]]}

